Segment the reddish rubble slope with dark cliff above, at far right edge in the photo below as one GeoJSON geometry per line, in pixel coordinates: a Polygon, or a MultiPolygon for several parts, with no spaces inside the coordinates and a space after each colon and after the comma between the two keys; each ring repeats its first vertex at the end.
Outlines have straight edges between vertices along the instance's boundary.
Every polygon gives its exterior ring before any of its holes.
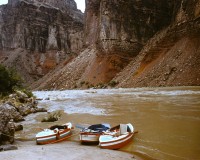
{"type": "Polygon", "coordinates": [[[114,81],[120,82],[118,87],[200,85],[199,46],[200,1],[177,1],[171,24],[114,81]]]}

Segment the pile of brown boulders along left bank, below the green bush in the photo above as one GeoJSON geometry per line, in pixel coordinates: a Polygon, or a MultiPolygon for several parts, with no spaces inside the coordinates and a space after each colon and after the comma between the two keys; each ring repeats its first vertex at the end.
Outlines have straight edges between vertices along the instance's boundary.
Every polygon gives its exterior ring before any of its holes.
{"type": "Polygon", "coordinates": [[[28,114],[47,112],[37,107],[37,100],[22,91],[16,91],[0,102],[0,151],[16,149],[10,145],[15,141],[15,132],[23,130],[19,122],[28,114]]]}

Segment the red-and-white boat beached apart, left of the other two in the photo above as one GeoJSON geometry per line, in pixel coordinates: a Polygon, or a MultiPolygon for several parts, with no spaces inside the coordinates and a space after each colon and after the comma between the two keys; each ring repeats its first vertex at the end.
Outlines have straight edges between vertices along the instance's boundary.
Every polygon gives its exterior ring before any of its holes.
{"type": "Polygon", "coordinates": [[[72,123],[54,125],[36,134],[37,144],[50,144],[63,141],[72,134],[72,123]]]}

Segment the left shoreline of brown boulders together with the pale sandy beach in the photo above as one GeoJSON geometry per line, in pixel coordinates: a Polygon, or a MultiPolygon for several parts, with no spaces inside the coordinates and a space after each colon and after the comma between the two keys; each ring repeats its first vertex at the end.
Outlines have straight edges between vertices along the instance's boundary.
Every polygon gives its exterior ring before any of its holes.
{"type": "Polygon", "coordinates": [[[105,160],[113,158],[116,160],[141,160],[131,153],[100,149],[93,145],[85,146],[74,141],[50,145],[35,145],[33,140],[20,141],[15,139],[15,132],[23,129],[20,122],[25,120],[25,116],[36,112],[46,112],[46,109],[37,107],[37,100],[35,97],[28,97],[21,91],[11,94],[6,100],[1,100],[0,152],[2,159],[26,160],[32,157],[35,159],[43,159],[45,157],[46,159],[56,158],[62,160],[66,156],[67,159],[91,159],[95,152],[97,160],[102,158],[105,160]],[[55,152],[52,152],[52,150],[55,152]]]}

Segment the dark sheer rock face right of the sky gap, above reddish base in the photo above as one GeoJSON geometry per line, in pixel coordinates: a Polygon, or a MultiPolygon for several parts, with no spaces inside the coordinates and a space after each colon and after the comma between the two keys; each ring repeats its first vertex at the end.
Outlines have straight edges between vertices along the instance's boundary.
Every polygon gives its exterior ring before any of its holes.
{"type": "Polygon", "coordinates": [[[170,23],[172,5],[170,0],[86,0],[86,45],[135,56],[170,23]]]}

